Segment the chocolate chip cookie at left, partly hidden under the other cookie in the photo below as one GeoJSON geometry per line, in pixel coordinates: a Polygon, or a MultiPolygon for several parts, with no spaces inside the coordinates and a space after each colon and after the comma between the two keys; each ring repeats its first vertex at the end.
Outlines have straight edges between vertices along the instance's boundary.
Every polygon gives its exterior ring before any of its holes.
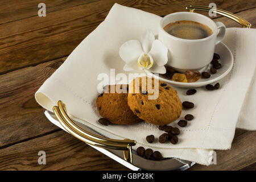
{"type": "Polygon", "coordinates": [[[117,125],[142,121],[130,110],[127,104],[128,91],[122,93],[122,90],[125,89],[128,90],[128,85],[107,85],[104,88],[104,93],[100,94],[96,101],[100,115],[117,125]],[[115,89],[115,86],[117,86],[117,89],[115,89]],[[110,92],[112,90],[114,93],[110,92]]]}

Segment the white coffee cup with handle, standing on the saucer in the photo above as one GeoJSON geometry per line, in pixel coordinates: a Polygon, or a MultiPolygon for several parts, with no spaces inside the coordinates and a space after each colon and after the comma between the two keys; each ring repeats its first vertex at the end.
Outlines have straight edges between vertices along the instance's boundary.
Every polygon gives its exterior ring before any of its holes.
{"type": "Polygon", "coordinates": [[[213,22],[207,16],[192,13],[172,13],[160,21],[158,39],[168,48],[168,65],[178,71],[200,70],[213,59],[214,47],[225,36],[226,27],[221,22],[213,22]],[[207,25],[213,34],[203,39],[181,39],[168,34],[163,28],[178,20],[191,20],[207,25]]]}

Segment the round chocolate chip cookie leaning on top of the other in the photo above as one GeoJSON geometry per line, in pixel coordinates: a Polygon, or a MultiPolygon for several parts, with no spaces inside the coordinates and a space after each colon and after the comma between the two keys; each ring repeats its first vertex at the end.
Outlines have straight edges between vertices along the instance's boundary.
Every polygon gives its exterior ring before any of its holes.
{"type": "Polygon", "coordinates": [[[129,84],[128,105],[139,118],[159,126],[175,121],[182,110],[176,90],[150,77],[135,78],[129,84]]]}

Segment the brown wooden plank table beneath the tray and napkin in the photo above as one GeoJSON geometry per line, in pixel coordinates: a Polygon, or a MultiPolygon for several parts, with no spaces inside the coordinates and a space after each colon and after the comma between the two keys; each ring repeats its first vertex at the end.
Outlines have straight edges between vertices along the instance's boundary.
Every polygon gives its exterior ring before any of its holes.
{"type": "MultiPolygon", "coordinates": [[[[44,0],[46,17],[38,16],[39,0],[0,1],[0,169],[126,170],[127,168],[65,133],[44,116],[36,90],[67,56],[105,19],[117,2],[160,16],[185,11],[188,5],[215,2],[256,26],[254,0],[130,1],[44,0]],[[38,164],[46,151],[47,164],[38,164]]],[[[217,16],[227,27],[239,24],[217,16]]],[[[256,169],[256,133],[236,130],[231,150],[217,151],[217,165],[196,164],[191,170],[256,169]]]]}

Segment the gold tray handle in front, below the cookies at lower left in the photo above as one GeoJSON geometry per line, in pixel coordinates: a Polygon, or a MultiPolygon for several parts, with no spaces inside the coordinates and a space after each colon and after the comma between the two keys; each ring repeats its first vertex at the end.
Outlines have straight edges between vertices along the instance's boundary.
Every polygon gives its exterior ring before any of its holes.
{"type": "Polygon", "coordinates": [[[100,137],[85,131],[80,126],[76,125],[75,122],[69,118],[67,114],[67,109],[62,101],[57,102],[57,106],[53,107],[53,113],[59,120],[60,124],[74,137],[82,140],[85,143],[92,144],[96,147],[106,148],[110,150],[122,150],[124,159],[133,163],[131,146],[135,146],[136,141],[130,139],[117,140],[100,137]]]}

